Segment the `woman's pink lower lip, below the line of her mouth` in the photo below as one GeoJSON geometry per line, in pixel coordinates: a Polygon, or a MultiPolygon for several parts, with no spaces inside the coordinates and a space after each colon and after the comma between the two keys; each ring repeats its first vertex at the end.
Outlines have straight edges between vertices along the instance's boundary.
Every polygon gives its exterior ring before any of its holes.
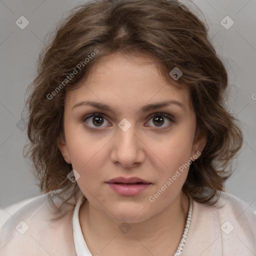
{"type": "Polygon", "coordinates": [[[145,190],[150,183],[139,184],[121,184],[121,183],[107,183],[116,193],[120,195],[137,195],[145,190]]]}

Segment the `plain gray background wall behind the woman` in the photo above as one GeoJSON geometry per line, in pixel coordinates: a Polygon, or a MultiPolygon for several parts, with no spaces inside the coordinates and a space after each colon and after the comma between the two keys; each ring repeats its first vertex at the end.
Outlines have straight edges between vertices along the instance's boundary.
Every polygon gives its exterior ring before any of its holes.
{"type": "MultiPolygon", "coordinates": [[[[0,0],[0,209],[40,194],[29,171],[29,160],[22,156],[26,129],[22,131],[21,124],[20,130],[16,123],[24,106],[26,87],[36,75],[36,60],[44,36],[65,11],[79,2],[82,1],[0,0]],[[24,29],[15,24],[20,16],[29,21],[24,29]]],[[[193,9],[194,4],[204,14],[210,38],[228,69],[229,109],[243,122],[245,140],[233,163],[236,172],[226,183],[226,190],[256,209],[256,1],[189,3],[193,9]],[[234,21],[228,29],[220,23],[226,15],[234,21]]],[[[230,24],[228,20],[224,22],[230,24]]]]}

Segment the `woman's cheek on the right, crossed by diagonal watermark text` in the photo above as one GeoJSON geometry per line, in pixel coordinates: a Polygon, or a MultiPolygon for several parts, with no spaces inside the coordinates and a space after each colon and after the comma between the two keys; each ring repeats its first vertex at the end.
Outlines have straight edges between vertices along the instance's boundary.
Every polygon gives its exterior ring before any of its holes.
{"type": "MultiPolygon", "coordinates": [[[[162,199],[169,201],[171,194],[176,194],[185,182],[192,156],[193,127],[185,125],[172,130],[170,135],[159,143],[151,144],[154,159],[156,187],[159,193],[163,192],[162,199]],[[167,187],[167,188],[166,188],[167,187]]],[[[157,194],[156,194],[157,196],[157,194]]],[[[161,199],[161,200],[162,200],[161,199]]]]}

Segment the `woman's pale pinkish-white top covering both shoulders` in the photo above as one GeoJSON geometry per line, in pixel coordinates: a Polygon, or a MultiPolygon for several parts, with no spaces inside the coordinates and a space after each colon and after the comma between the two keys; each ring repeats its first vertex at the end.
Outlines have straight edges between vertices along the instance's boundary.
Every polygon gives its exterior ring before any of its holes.
{"type": "MultiPolygon", "coordinates": [[[[21,207],[0,227],[0,256],[91,256],[78,218],[82,196],[70,202],[63,204],[67,214],[58,220],[52,220],[55,215],[47,194],[21,207]]],[[[256,214],[226,192],[214,206],[193,201],[181,255],[255,256],[256,214]]]]}

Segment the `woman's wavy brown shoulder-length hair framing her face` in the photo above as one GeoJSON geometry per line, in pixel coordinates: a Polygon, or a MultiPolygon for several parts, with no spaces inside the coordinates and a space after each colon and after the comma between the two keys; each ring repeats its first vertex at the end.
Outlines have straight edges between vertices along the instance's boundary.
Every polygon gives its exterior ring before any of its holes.
{"type": "Polygon", "coordinates": [[[93,63],[117,51],[153,56],[167,82],[173,82],[169,72],[174,67],[182,71],[179,86],[189,87],[197,127],[207,133],[206,145],[191,163],[182,189],[197,202],[211,205],[217,201],[232,172],[231,159],[241,147],[242,134],[224,104],[226,69],[197,15],[176,0],[91,1],[74,7],[47,40],[39,54],[38,74],[29,84],[30,143],[25,156],[32,160],[40,190],[53,192],[48,199],[56,214],[64,202],[72,204],[69,199],[81,193],[77,183],[67,178],[72,166],[57,145],[63,135],[65,92],[79,85],[93,63]],[[83,62],[78,73],[65,80],[88,55],[89,61],[83,62]],[[54,203],[53,194],[61,199],[60,205],[54,203]]]}

